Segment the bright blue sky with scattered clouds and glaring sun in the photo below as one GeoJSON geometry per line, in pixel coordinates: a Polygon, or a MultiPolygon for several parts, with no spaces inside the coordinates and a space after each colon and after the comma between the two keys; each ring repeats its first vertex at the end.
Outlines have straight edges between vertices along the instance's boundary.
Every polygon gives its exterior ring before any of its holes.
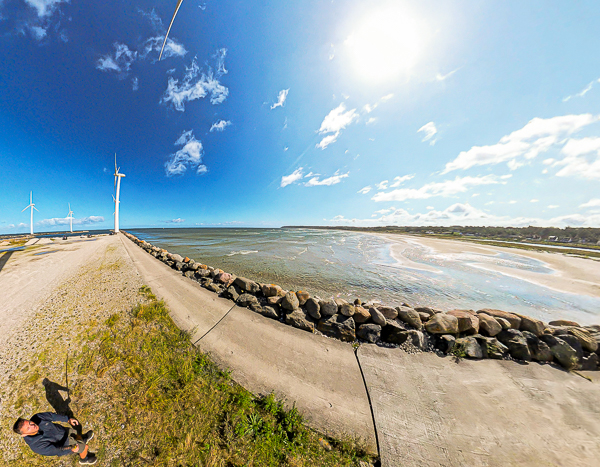
{"type": "Polygon", "coordinates": [[[600,226],[598,2],[0,0],[0,232],[600,226]]]}

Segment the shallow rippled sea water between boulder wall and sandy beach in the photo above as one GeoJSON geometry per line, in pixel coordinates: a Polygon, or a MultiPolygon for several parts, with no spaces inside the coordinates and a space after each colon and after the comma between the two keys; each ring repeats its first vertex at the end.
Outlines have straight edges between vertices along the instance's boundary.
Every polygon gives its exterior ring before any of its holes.
{"type": "Polygon", "coordinates": [[[133,229],[172,253],[257,282],[349,300],[390,305],[499,308],[550,321],[600,323],[600,298],[557,292],[482,269],[485,263],[544,274],[544,263],[517,254],[440,254],[411,244],[403,256],[428,269],[399,264],[385,238],[311,229],[133,229]]]}

